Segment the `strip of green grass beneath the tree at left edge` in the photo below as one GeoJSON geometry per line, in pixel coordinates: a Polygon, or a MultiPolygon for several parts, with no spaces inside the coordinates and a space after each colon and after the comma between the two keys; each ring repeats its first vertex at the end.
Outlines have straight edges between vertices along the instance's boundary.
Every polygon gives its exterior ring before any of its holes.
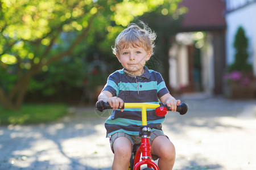
{"type": "Polygon", "coordinates": [[[19,111],[0,106],[0,125],[40,124],[52,122],[67,114],[64,104],[24,104],[19,111]]]}

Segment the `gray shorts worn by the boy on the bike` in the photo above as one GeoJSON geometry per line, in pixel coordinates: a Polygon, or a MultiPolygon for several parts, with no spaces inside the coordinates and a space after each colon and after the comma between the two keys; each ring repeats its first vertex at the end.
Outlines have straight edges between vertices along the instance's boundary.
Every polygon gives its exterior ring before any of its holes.
{"type": "MultiPolygon", "coordinates": [[[[169,138],[167,137],[167,135],[165,135],[165,134],[163,133],[163,131],[161,131],[161,130],[154,130],[154,131],[151,131],[151,135],[150,135],[150,145],[152,144],[152,141],[154,141],[154,139],[155,139],[156,137],[160,136],[160,135],[163,135],[164,137],[166,137],[167,139],[169,139],[169,138]]],[[[109,138],[111,150],[112,150],[113,153],[114,153],[113,144],[114,144],[114,142],[115,142],[115,139],[117,139],[117,138],[119,138],[119,137],[125,137],[125,138],[129,139],[129,141],[131,142],[131,147],[132,147],[131,150],[133,150],[133,146],[134,146],[135,144],[141,144],[141,137],[139,137],[139,135],[129,135],[129,134],[126,134],[126,133],[123,133],[123,132],[117,132],[117,133],[111,135],[110,138],[109,138]]],[[[152,158],[153,158],[153,159],[155,158],[154,160],[157,159],[156,157],[157,157],[157,156],[152,155],[152,158]]]]}

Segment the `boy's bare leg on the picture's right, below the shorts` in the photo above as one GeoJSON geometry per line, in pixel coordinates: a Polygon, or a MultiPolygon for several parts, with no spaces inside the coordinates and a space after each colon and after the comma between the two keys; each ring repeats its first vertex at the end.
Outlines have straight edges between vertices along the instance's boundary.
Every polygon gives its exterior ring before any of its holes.
{"type": "Polygon", "coordinates": [[[151,144],[152,154],[159,157],[158,167],[161,170],[171,170],[175,162],[175,147],[164,135],[155,137],[151,144]]]}

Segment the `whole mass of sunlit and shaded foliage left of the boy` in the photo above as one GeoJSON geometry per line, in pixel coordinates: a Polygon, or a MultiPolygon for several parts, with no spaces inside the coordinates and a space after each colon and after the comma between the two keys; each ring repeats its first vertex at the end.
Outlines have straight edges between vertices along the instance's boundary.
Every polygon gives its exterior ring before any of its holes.
{"type": "Polygon", "coordinates": [[[123,27],[145,12],[173,12],[178,2],[0,0],[1,104],[19,108],[27,90],[49,96],[63,84],[81,87],[96,59],[115,69],[110,46],[123,27]]]}

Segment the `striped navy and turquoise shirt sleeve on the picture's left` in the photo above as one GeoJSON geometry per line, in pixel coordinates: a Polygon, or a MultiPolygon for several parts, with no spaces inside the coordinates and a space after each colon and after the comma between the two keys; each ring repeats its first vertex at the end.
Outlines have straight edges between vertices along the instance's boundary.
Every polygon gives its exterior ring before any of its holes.
{"type": "Polygon", "coordinates": [[[113,74],[110,74],[107,80],[107,83],[105,84],[102,91],[106,90],[109,91],[113,96],[118,96],[119,93],[119,80],[118,80],[118,74],[115,72],[113,74]]]}

